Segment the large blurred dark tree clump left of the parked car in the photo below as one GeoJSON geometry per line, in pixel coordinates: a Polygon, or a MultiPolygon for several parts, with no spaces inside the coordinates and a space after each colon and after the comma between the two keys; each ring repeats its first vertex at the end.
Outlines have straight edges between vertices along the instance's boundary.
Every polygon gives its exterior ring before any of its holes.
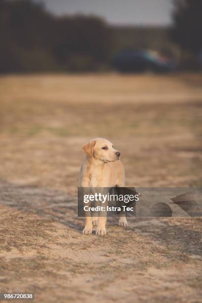
{"type": "Polygon", "coordinates": [[[0,0],[0,72],[100,69],[111,42],[98,17],[56,17],[42,3],[0,0]]]}

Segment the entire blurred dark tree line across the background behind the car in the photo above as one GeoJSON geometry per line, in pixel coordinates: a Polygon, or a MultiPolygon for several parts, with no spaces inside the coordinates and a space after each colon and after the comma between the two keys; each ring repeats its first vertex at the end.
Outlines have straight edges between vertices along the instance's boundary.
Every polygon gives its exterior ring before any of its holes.
{"type": "Polygon", "coordinates": [[[93,71],[124,47],[181,50],[185,67],[202,56],[202,0],[173,0],[173,26],[110,27],[96,16],[54,16],[32,0],[0,0],[0,72],[93,71]]]}

